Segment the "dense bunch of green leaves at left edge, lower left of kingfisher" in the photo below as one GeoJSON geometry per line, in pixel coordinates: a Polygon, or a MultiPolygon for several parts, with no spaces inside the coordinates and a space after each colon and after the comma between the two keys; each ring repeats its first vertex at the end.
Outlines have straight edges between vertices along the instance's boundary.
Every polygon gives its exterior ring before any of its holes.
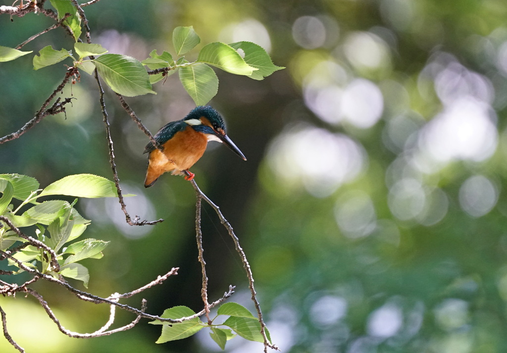
{"type": "MultiPolygon", "coordinates": [[[[81,236],[90,224],[90,221],[84,219],[74,208],[78,200],[73,203],[63,200],[38,200],[51,195],[117,197],[115,184],[96,175],[77,174],[60,179],[45,189],[39,189],[39,182],[34,178],[20,174],[0,174],[0,192],[0,215],[6,217],[18,229],[34,226],[28,228],[28,231],[34,233],[32,238],[42,241],[55,252],[60,268],[56,271],[51,265],[50,254],[33,244],[15,252],[13,257],[29,268],[56,278],[62,275],[81,280],[87,287],[88,269],[78,262],[87,258],[102,258],[102,250],[108,242],[90,238],[67,244],[81,236]],[[20,204],[14,206],[11,203],[13,199],[21,201],[20,204]]],[[[0,221],[0,225],[1,250],[8,250],[17,241],[28,241],[19,237],[5,222],[0,221]]],[[[23,233],[26,234],[25,231],[23,233]]],[[[9,265],[19,268],[12,260],[9,260],[9,265]]],[[[21,272],[23,270],[19,269],[15,273],[21,272]]]]}

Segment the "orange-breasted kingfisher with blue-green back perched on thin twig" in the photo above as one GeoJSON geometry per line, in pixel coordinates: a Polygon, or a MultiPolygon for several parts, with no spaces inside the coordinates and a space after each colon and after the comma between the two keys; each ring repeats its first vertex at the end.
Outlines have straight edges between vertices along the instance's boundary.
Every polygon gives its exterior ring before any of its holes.
{"type": "Polygon", "coordinates": [[[146,145],[143,153],[148,153],[148,170],[144,187],[149,188],[163,173],[183,175],[186,180],[194,179],[189,168],[202,157],[208,141],[224,143],[234,153],[246,161],[245,156],[227,136],[224,119],[209,105],[199,105],[185,118],[171,121],[154,136],[162,147],[157,149],[152,142],[146,145]]]}

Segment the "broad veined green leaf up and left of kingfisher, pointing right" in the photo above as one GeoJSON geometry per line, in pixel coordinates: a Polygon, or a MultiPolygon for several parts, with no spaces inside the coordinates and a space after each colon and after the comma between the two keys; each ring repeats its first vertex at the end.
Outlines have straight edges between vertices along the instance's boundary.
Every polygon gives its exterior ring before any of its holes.
{"type": "Polygon", "coordinates": [[[142,64],[133,57],[104,54],[94,60],[98,73],[116,93],[133,97],[154,93],[150,78],[142,64]]]}

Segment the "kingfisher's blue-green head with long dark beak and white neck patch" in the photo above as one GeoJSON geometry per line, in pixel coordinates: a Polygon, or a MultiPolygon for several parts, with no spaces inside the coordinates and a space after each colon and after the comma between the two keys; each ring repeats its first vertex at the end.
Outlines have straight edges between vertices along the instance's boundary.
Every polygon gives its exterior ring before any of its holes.
{"type": "Polygon", "coordinates": [[[184,119],[197,132],[204,133],[209,141],[218,141],[224,143],[234,153],[246,161],[245,156],[239,148],[234,145],[227,136],[224,119],[209,105],[199,105],[194,108],[184,119]]]}

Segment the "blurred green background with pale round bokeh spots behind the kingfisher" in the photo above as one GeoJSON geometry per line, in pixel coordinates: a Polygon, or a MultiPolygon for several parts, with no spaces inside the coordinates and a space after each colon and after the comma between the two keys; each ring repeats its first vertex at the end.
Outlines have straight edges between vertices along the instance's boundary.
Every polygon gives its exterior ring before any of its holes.
{"type": "MultiPolygon", "coordinates": [[[[2,5],[11,5],[3,2],[2,5]]],[[[49,4],[48,4],[49,6],[49,4]]],[[[255,42],[286,69],[264,81],[218,72],[210,102],[247,162],[210,144],[196,181],[221,206],[251,263],[274,343],[283,352],[507,350],[507,7],[503,0],[102,0],[85,8],[92,40],[111,53],[172,51],[172,29],[193,25],[202,45],[255,42]]],[[[0,45],[50,26],[42,16],[0,18],[0,45]]],[[[71,48],[62,30],[24,47],[71,48]]],[[[199,47],[198,47],[199,48],[199,47]]],[[[197,51],[188,55],[195,59],[197,51]]],[[[61,82],[65,67],[34,71],[32,55],[0,65],[0,135],[19,129],[61,82]]],[[[68,62],[69,64],[70,62],[68,62]]],[[[169,77],[157,95],[127,101],[156,132],[193,101],[169,77]]],[[[42,186],[75,173],[110,178],[94,81],[78,98],[0,146],[0,173],[42,186]]],[[[85,233],[111,241],[88,260],[89,292],[128,292],[170,270],[178,276],[127,303],[149,311],[200,310],[195,196],[183,178],[142,183],[147,137],[108,91],[119,177],[131,215],[165,221],[130,227],[114,199],[81,199],[85,233]]],[[[203,211],[210,299],[253,308],[241,262],[209,207],[203,211]]],[[[76,284],[80,288],[80,284],[76,284]]],[[[36,287],[63,325],[94,331],[108,308],[36,287]]],[[[213,352],[207,332],[155,344],[160,327],[92,340],[58,332],[33,298],[0,298],[28,352],[213,352]]],[[[133,319],[120,313],[118,323],[133,319]]],[[[228,352],[260,352],[235,338],[228,352]]],[[[2,352],[15,351],[0,339],[2,352]]]]}

